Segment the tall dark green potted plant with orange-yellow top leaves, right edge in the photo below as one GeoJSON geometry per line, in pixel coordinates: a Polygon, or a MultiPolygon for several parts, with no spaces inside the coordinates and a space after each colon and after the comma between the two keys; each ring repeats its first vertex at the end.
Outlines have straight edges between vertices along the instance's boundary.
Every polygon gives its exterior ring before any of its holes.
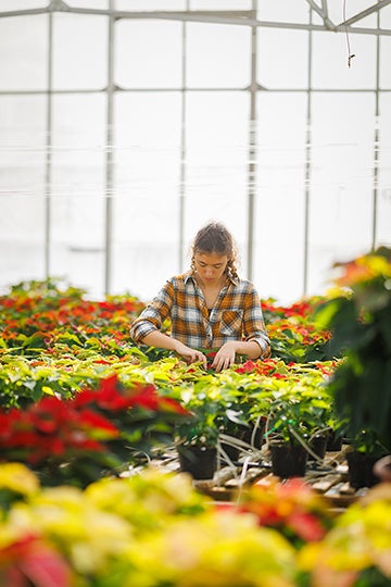
{"type": "Polygon", "coordinates": [[[391,452],[391,249],[338,263],[337,294],[317,312],[342,360],[329,380],[354,452],[391,452]]]}

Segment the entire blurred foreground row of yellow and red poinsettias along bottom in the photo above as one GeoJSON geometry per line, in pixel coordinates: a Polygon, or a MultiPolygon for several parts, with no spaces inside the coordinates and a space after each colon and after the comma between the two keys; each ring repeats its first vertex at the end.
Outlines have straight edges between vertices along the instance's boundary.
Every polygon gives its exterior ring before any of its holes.
{"type": "MultiPolygon", "coordinates": [[[[380,491],[379,491],[380,489],[380,491]]],[[[391,490],[331,516],[299,479],[213,504],[185,474],[154,469],[85,490],[42,488],[0,465],[4,587],[386,587],[391,490]]]]}

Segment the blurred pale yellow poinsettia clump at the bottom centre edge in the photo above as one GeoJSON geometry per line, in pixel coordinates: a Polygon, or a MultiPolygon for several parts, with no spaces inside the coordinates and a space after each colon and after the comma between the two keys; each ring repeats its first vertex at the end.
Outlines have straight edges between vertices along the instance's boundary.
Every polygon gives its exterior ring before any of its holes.
{"type": "MultiPolygon", "coordinates": [[[[252,515],[234,512],[175,520],[164,533],[143,536],[129,549],[128,558],[135,572],[146,577],[146,585],[294,585],[293,548],[277,532],[258,527],[252,515]]],[[[133,571],[126,585],[133,585],[133,571]]]]}

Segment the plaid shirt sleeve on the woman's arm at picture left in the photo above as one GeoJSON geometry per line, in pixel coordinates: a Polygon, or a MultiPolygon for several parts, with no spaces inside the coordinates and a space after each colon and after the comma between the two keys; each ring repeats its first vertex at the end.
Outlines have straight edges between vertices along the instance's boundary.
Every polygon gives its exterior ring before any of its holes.
{"type": "Polygon", "coordinates": [[[169,316],[173,305],[174,288],[167,282],[157,296],[142,310],[141,314],[130,324],[130,336],[136,344],[153,330],[160,330],[163,322],[169,316]]]}

